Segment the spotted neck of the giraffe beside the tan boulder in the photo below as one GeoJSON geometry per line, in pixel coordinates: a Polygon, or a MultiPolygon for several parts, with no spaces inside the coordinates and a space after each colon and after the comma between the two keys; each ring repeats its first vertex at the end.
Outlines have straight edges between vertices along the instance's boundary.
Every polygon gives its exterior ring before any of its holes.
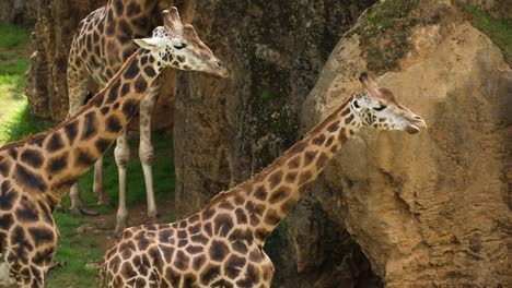
{"type": "Polygon", "coordinates": [[[352,113],[351,98],[269,167],[214,197],[203,212],[229,209],[240,220],[238,209],[244,211],[255,240],[264,244],[299,201],[303,188],[317,178],[342,144],[362,127],[352,113]]]}

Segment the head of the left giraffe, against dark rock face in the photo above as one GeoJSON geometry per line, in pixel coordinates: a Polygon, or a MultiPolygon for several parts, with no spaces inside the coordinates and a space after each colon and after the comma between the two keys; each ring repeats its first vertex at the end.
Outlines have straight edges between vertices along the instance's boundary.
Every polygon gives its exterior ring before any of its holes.
{"type": "Polygon", "coordinates": [[[161,62],[162,68],[202,71],[221,77],[229,75],[228,69],[197,36],[193,25],[183,25],[175,7],[163,11],[164,25],[153,31],[151,38],[135,39],[161,62]]]}

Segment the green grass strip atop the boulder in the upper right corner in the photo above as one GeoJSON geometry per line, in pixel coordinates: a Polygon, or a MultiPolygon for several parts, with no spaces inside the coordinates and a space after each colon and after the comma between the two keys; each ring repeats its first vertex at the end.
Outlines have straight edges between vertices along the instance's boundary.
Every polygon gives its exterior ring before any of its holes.
{"type": "Polygon", "coordinates": [[[475,5],[458,5],[470,17],[473,25],[503,50],[507,62],[512,64],[512,20],[492,17],[475,5]]]}

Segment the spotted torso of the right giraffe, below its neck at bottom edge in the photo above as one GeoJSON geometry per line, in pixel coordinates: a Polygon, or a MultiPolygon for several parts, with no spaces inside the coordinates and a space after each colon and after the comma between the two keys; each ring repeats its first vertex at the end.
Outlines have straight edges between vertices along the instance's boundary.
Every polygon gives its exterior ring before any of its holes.
{"type": "Polygon", "coordinates": [[[274,264],[248,225],[240,227],[248,220],[211,209],[125,229],[105,254],[108,287],[270,287],[274,264]]]}

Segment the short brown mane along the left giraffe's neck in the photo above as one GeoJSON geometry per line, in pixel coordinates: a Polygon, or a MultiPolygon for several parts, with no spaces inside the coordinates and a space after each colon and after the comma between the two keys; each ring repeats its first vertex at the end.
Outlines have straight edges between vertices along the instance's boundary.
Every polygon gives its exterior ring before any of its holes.
{"type": "Polygon", "coordinates": [[[112,84],[118,80],[121,75],[121,73],[127,69],[128,64],[131,63],[131,61],[137,57],[137,55],[139,55],[141,51],[141,48],[139,48],[137,51],[135,51],[126,61],[125,63],[123,64],[123,67],[119,69],[119,71],[117,71],[117,73],[108,81],[107,85],[102,89],[98,93],[96,93],[96,95],[94,95],[91,100],[83,105],[80,110],[74,113],[74,116],[72,116],[71,118],[67,119],[66,121],[62,121],[60,122],[58,125],[56,125],[55,128],[50,128],[48,130],[45,130],[43,132],[38,132],[34,135],[28,135],[24,139],[21,139],[19,141],[14,141],[14,142],[11,142],[11,143],[8,143],[5,145],[3,145],[2,147],[0,147],[0,151],[5,151],[5,149],[9,149],[9,148],[12,148],[12,147],[19,147],[25,143],[28,143],[28,142],[33,142],[33,141],[36,141],[36,140],[39,140],[39,139],[43,139],[45,136],[47,136],[48,134],[61,129],[63,125],[66,125],[67,123],[71,122],[71,121],[74,121],[84,110],[89,109],[92,105],[93,105],[93,99],[100,97],[100,95],[103,95],[105,94],[105,92],[110,88],[112,84]]]}

